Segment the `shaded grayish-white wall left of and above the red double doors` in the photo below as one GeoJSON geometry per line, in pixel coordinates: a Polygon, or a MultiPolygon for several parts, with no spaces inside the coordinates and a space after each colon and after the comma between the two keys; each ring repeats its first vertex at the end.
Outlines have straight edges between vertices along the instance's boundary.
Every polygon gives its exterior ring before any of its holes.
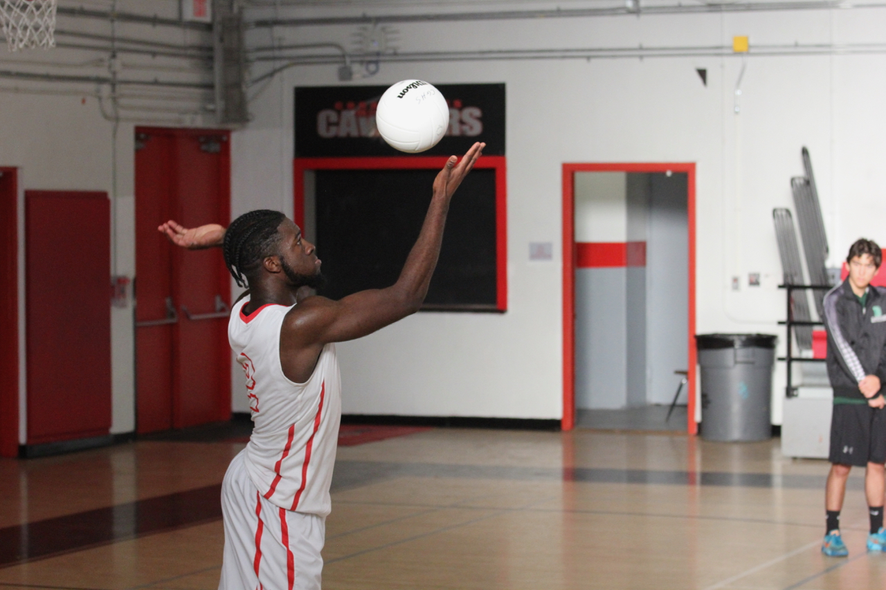
{"type": "MultiPolygon", "coordinates": [[[[86,2],[107,10],[109,3],[86,2]]],[[[177,18],[175,3],[162,0],[120,0],[123,12],[147,12],[177,18]]],[[[110,22],[58,16],[58,28],[111,35],[110,22]]],[[[210,43],[206,33],[181,27],[118,23],[121,36],[152,38],[161,43],[210,43]]],[[[69,45],[71,37],[57,38],[69,45]]],[[[79,40],[82,43],[82,39],[79,40]]],[[[76,43],[76,38],[74,43],[76,43]]],[[[93,47],[103,44],[93,40],[93,47]]],[[[7,71],[33,74],[109,77],[109,53],[61,46],[51,50],[10,53],[0,45],[7,71]]],[[[192,60],[120,53],[120,78],[152,81],[206,82],[211,68],[192,60]]],[[[19,167],[22,190],[101,190],[112,200],[112,275],[135,276],[135,128],[136,125],[183,127],[201,124],[209,98],[205,90],[126,85],[119,89],[119,122],[114,133],[109,85],[96,82],[39,82],[0,76],[0,166],[19,167]],[[101,102],[100,102],[101,100],[101,102]],[[116,136],[116,138],[115,138],[116,136]],[[116,167],[113,166],[116,155],[116,167]],[[116,175],[114,170],[116,169],[116,175]]],[[[24,214],[24,208],[19,210],[24,214]]],[[[75,222],[75,220],[72,220],[75,222]]],[[[60,245],[64,247],[64,245],[60,245]]],[[[19,269],[25,272],[25,268],[19,269]]],[[[22,299],[23,305],[27,301],[22,299]]],[[[112,433],[135,428],[135,364],[133,307],[110,307],[112,338],[112,433]]],[[[75,311],[72,311],[75,313],[75,311]]],[[[25,375],[24,351],[21,371],[25,375]]],[[[24,377],[22,377],[24,379],[24,377]]],[[[25,387],[19,391],[19,442],[27,438],[25,387]]]]}

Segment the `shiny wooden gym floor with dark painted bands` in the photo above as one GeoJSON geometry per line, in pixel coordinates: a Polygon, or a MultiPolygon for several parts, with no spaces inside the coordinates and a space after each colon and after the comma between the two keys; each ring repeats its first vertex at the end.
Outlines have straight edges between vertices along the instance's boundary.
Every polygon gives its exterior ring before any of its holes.
{"type": "MultiPolygon", "coordinates": [[[[214,590],[242,442],[0,460],[0,590],[214,590]]],[[[340,446],[326,590],[886,587],[862,473],[820,554],[828,464],[778,439],[433,429],[340,446]]]]}

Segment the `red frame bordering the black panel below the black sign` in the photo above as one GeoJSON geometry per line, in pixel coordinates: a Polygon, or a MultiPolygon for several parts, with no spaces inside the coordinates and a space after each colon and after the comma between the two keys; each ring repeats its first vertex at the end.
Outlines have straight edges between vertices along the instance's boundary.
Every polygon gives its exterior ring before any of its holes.
{"type": "MultiPolygon", "coordinates": [[[[305,227],[305,172],[307,170],[439,170],[446,156],[395,156],[347,158],[296,158],[292,160],[294,216],[305,227]]],[[[495,170],[495,271],[496,303],[501,312],[508,309],[508,187],[504,156],[482,156],[475,168],[495,170]]],[[[309,236],[313,239],[314,236],[309,236]]]]}

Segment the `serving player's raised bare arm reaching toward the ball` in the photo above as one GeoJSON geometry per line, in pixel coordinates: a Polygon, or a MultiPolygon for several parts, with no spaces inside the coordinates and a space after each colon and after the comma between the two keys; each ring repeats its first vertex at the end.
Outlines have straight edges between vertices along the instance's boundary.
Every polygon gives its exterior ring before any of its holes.
{"type": "Polygon", "coordinates": [[[339,301],[305,299],[287,317],[293,329],[290,333],[298,340],[292,345],[299,348],[361,338],[418,311],[437,266],[449,202],[484,147],[486,144],[474,144],[461,161],[452,156],[440,170],[422,230],[397,283],[386,289],[360,291],[339,301]]]}

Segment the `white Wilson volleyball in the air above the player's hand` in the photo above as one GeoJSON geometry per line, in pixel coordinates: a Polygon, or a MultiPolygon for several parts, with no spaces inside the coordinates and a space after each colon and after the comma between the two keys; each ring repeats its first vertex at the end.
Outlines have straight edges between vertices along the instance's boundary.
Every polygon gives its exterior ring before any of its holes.
{"type": "Polygon", "coordinates": [[[446,98],[428,82],[397,82],[378,101],[376,127],[392,148],[409,153],[430,150],[449,127],[446,98]]]}

